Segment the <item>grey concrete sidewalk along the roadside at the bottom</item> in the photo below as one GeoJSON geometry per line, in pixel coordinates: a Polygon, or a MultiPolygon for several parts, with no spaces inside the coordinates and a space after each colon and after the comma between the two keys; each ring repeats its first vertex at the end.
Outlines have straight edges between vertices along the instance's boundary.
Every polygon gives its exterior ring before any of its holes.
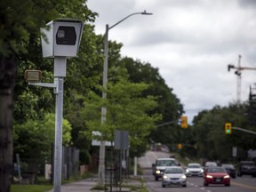
{"type": "MultiPolygon", "coordinates": [[[[142,187],[142,183],[139,180],[139,177],[132,178],[133,176],[130,177],[130,179],[124,179],[123,185],[128,186],[129,188],[121,188],[121,191],[131,191],[131,186],[132,187],[142,187]]],[[[79,180],[76,182],[68,183],[65,185],[61,186],[61,192],[92,192],[92,191],[97,191],[97,192],[104,192],[103,190],[92,190],[94,186],[97,185],[97,178],[89,178],[85,180],[79,180]]],[[[108,191],[110,191],[110,187],[108,187],[108,191]]],[[[112,187],[112,191],[120,191],[119,187],[112,187]]],[[[53,192],[53,188],[49,191],[53,192]]]]}

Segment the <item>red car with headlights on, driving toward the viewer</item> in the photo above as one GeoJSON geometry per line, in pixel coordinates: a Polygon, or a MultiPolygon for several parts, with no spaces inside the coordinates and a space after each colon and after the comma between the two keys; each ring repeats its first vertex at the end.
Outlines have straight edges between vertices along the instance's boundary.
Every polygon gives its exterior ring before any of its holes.
{"type": "Polygon", "coordinates": [[[230,186],[230,176],[223,167],[207,167],[204,170],[204,186],[208,186],[209,184],[224,184],[225,186],[230,186]]]}

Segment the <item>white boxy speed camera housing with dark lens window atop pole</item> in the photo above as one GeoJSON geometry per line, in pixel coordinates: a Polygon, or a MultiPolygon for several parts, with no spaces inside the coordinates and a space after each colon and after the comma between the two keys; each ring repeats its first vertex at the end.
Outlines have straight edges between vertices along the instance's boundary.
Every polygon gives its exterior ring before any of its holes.
{"type": "Polygon", "coordinates": [[[43,57],[76,57],[84,23],[77,19],[52,20],[41,28],[43,57]]]}

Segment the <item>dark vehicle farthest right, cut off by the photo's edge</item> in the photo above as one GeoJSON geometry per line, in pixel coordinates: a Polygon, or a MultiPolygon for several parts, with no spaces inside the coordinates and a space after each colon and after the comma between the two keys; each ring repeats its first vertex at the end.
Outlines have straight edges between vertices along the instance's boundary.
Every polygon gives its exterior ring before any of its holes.
{"type": "Polygon", "coordinates": [[[241,161],[238,164],[237,176],[252,175],[256,177],[256,165],[253,161],[241,161]]]}

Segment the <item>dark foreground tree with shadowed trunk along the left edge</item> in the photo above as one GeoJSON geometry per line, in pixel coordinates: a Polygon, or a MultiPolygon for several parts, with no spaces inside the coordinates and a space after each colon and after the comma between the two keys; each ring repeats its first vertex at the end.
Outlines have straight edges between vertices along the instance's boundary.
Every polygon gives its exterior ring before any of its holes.
{"type": "MultiPolygon", "coordinates": [[[[59,1],[60,2],[60,1],[59,1]]],[[[12,111],[14,82],[18,55],[26,53],[23,45],[35,28],[40,28],[51,14],[52,1],[44,4],[49,14],[44,13],[40,2],[27,1],[22,5],[15,0],[0,3],[0,191],[10,191],[12,174],[12,111]],[[39,6],[36,6],[39,5],[39,6]],[[50,5],[50,7],[48,7],[50,5]],[[20,17],[22,12],[22,17],[20,17]],[[36,15],[35,15],[36,14],[36,15]],[[45,15],[44,15],[45,14],[45,15]],[[43,16],[44,15],[44,16],[43,16]]],[[[53,7],[53,6],[52,6],[53,7]]],[[[53,16],[53,15],[52,15],[53,16]]]]}

